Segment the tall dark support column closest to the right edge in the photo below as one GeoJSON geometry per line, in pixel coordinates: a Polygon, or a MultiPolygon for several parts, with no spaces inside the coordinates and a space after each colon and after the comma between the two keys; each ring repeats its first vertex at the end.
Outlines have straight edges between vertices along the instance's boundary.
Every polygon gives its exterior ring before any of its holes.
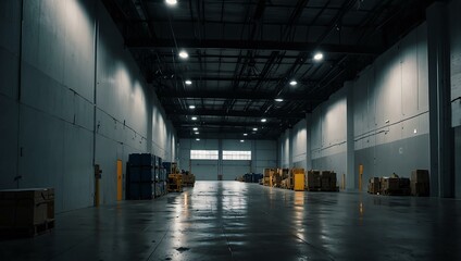
{"type": "Polygon", "coordinates": [[[447,7],[426,10],[429,87],[431,196],[454,196],[453,129],[450,108],[450,48],[447,7]]]}

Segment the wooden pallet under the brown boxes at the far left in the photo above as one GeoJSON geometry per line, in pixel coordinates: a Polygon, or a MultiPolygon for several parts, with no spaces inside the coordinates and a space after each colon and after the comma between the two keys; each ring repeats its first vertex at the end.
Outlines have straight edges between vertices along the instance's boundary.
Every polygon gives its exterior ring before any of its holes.
{"type": "Polygon", "coordinates": [[[54,228],[54,219],[33,226],[0,227],[0,238],[34,237],[51,232],[54,228]]]}

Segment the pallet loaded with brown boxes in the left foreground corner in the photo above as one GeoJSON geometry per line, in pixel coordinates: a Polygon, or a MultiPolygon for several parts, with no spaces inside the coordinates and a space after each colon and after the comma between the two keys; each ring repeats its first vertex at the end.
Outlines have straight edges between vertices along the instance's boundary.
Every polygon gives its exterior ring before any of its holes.
{"type": "Polygon", "coordinates": [[[54,189],[0,190],[0,236],[36,236],[54,227],[54,189]]]}

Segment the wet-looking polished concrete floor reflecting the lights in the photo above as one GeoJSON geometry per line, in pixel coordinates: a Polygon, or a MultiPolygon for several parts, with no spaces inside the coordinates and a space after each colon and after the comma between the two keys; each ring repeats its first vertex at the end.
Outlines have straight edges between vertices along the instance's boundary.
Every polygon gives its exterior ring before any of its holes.
{"type": "Polygon", "coordinates": [[[461,260],[461,201],[197,182],[59,214],[0,260],[461,260]]]}

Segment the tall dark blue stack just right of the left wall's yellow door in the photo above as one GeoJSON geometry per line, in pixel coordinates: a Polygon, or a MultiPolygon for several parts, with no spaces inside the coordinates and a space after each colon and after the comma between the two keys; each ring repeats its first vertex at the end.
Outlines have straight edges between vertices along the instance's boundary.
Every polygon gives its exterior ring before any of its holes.
{"type": "Polygon", "coordinates": [[[155,196],[154,157],[150,153],[129,154],[126,199],[152,199],[155,196]]]}

